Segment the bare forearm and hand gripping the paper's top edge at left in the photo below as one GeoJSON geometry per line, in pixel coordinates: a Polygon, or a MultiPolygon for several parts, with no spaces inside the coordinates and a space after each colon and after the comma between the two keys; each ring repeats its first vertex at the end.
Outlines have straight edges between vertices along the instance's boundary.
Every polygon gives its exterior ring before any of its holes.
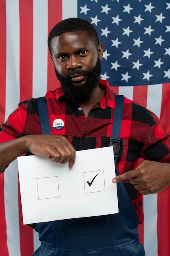
{"type": "Polygon", "coordinates": [[[27,152],[34,155],[49,155],[53,162],[65,164],[69,168],[75,162],[75,149],[62,135],[26,135],[0,143],[0,173],[18,156],[27,152]]]}

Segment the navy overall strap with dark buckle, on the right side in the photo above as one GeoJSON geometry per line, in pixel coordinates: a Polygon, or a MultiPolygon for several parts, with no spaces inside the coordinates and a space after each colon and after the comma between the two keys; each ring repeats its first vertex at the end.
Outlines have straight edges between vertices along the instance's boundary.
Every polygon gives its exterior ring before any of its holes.
{"type": "Polygon", "coordinates": [[[120,150],[120,130],[121,130],[123,110],[124,110],[124,96],[116,95],[115,112],[113,117],[113,126],[112,126],[110,145],[109,145],[109,146],[113,146],[115,164],[116,164],[117,157],[119,156],[119,150],[120,150]]]}

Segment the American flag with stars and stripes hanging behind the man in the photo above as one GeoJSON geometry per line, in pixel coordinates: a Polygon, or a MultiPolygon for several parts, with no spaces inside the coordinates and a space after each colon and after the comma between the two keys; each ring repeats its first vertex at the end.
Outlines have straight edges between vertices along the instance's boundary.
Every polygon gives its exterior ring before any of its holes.
{"type": "MultiPolygon", "coordinates": [[[[100,78],[170,132],[170,0],[0,0],[0,122],[18,102],[59,85],[47,37],[70,17],[90,21],[104,44],[100,78]]],[[[144,196],[143,207],[146,256],[170,256],[170,188],[144,196]]],[[[0,256],[31,256],[38,247],[38,234],[22,224],[14,161],[0,175],[0,256]]]]}

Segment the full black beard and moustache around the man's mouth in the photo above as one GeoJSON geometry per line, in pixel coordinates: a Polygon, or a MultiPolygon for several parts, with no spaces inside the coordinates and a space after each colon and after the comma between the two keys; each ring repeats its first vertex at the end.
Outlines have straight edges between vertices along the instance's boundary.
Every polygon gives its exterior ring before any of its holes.
{"type": "Polygon", "coordinates": [[[84,101],[88,99],[89,95],[98,85],[99,75],[101,73],[101,63],[98,58],[95,67],[91,70],[71,70],[66,75],[60,75],[57,70],[55,69],[55,74],[57,79],[60,81],[62,89],[66,95],[66,97],[71,97],[76,101],[84,101]],[[86,83],[83,85],[73,85],[70,76],[73,74],[82,74],[86,75],[86,83]]]}

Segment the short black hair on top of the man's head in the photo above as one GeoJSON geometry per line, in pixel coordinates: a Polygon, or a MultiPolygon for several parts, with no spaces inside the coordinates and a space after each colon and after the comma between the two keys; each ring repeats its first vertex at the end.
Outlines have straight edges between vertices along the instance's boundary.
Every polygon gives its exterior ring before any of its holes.
{"type": "Polygon", "coordinates": [[[68,18],[66,20],[60,21],[59,23],[57,23],[57,25],[53,27],[53,29],[51,29],[48,37],[48,46],[50,53],[52,52],[51,40],[53,37],[60,36],[63,33],[75,32],[80,30],[87,31],[89,38],[96,45],[96,47],[98,46],[99,37],[97,35],[97,31],[90,22],[81,18],[68,18]]]}

